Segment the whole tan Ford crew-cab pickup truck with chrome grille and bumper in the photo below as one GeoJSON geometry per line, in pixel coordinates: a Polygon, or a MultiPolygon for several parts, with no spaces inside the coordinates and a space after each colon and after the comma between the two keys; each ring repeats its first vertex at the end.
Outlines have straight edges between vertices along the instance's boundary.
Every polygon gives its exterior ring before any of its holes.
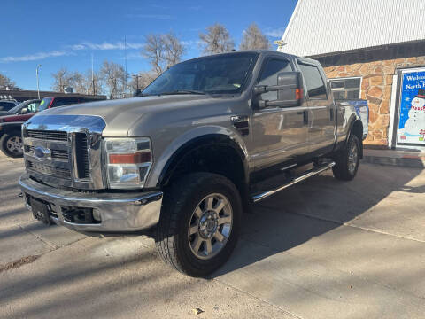
{"type": "Polygon", "coordinates": [[[335,102],[317,61],[237,51],[177,64],[140,97],[44,111],[22,136],[36,219],[149,234],[164,261],[207,276],[253,203],[331,167],[356,175],[367,104],[335,102]]]}

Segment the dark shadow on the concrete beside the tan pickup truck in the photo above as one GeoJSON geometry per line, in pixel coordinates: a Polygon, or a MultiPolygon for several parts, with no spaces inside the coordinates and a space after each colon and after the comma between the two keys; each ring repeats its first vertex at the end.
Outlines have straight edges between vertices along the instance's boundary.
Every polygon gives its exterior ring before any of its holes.
{"type": "MultiPolygon", "coordinates": [[[[425,179],[421,176],[421,181],[413,182],[418,175],[421,175],[420,168],[362,163],[351,182],[337,181],[329,170],[267,198],[254,206],[253,214],[243,215],[235,252],[212,277],[288,252],[313,237],[336,230],[370,211],[384,198],[394,198],[390,196],[394,191],[404,192],[406,197],[424,193],[425,179]]],[[[398,201],[398,205],[400,203],[398,201]]],[[[380,218],[386,218],[384,213],[380,214],[380,218]]],[[[380,223],[377,224],[372,227],[379,228],[380,223]]]]}

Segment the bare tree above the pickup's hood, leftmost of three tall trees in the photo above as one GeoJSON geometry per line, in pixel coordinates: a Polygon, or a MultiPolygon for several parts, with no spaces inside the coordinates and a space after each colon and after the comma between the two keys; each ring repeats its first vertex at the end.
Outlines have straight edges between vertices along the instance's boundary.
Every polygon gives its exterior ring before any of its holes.
{"type": "Polygon", "coordinates": [[[183,53],[184,46],[173,32],[148,35],[142,51],[143,57],[149,60],[153,71],[158,75],[179,63],[183,53]]]}

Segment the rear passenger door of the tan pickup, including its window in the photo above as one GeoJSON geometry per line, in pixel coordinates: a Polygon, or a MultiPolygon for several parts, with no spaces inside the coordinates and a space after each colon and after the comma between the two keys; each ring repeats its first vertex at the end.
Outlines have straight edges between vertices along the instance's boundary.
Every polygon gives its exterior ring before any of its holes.
{"type": "Polygon", "coordinates": [[[336,109],[321,66],[298,59],[308,105],[309,157],[331,152],[335,143],[336,109]]]}

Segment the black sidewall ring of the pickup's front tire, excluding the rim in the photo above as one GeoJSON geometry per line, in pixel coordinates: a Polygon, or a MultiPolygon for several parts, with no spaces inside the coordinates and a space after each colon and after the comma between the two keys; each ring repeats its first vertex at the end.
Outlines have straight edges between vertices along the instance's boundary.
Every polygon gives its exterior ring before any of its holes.
{"type": "Polygon", "coordinates": [[[229,255],[235,248],[237,237],[239,235],[242,203],[239,194],[236,190],[236,187],[224,177],[214,177],[213,181],[213,183],[205,184],[202,189],[193,192],[193,196],[187,198],[182,205],[182,218],[179,221],[179,231],[177,234],[177,250],[179,251],[179,253],[181,253],[182,262],[185,263],[187,266],[194,268],[193,270],[195,272],[212,272],[214,269],[219,268],[220,265],[223,263],[223,260],[228,260],[229,255]],[[218,183],[220,179],[223,183],[218,183]],[[232,206],[233,212],[232,230],[230,232],[228,242],[222,248],[222,250],[217,253],[217,255],[213,256],[213,258],[208,260],[202,260],[198,259],[190,249],[188,237],[189,222],[192,217],[193,211],[195,210],[199,202],[206,196],[213,193],[220,193],[226,198],[228,198],[228,201],[232,206]]]}

